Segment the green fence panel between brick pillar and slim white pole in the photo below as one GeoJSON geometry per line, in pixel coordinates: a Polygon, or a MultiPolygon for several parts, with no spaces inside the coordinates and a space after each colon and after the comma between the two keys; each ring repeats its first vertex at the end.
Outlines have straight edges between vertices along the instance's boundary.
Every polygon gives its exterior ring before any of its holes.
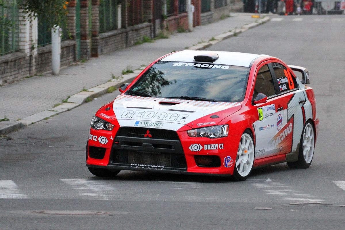
{"type": "Polygon", "coordinates": [[[99,32],[117,29],[117,0],[99,1],[99,32]]]}

